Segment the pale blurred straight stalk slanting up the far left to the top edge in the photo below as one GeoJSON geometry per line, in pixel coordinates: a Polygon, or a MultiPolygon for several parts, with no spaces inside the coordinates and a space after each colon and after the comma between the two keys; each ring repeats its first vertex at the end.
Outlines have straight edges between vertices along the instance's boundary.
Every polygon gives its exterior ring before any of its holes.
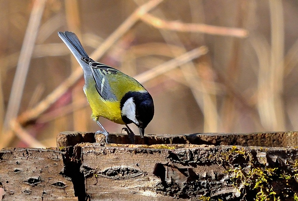
{"type": "Polygon", "coordinates": [[[41,23],[41,17],[44,12],[45,2],[46,0],[35,0],[33,4],[20,52],[20,57],[18,59],[6,114],[4,117],[0,147],[7,145],[13,137],[9,134],[6,134],[6,132],[9,130],[10,121],[15,119],[19,112],[23,89],[38,33],[38,28],[41,23]]]}

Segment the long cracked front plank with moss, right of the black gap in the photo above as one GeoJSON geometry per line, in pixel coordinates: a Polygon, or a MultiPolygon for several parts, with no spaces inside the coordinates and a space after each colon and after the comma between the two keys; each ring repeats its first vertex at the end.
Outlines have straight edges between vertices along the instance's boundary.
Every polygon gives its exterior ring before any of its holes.
{"type": "Polygon", "coordinates": [[[91,200],[292,200],[298,192],[296,148],[113,146],[76,146],[91,200]]]}

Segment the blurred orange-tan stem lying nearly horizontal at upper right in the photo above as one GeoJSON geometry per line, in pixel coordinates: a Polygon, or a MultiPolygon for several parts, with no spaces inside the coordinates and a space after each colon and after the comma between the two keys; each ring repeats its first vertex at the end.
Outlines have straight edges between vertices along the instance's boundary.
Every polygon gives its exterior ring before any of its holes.
{"type": "Polygon", "coordinates": [[[212,26],[207,24],[182,23],[177,21],[166,21],[154,17],[150,14],[142,16],[142,21],[158,29],[167,29],[178,32],[198,32],[211,35],[223,35],[244,38],[247,37],[248,31],[241,28],[229,28],[224,26],[212,26]]]}

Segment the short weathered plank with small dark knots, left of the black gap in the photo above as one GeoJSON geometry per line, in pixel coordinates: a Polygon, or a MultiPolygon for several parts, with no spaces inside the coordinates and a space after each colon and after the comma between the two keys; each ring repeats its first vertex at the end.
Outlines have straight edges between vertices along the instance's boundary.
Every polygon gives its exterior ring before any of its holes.
{"type": "Polygon", "coordinates": [[[38,148],[0,150],[0,186],[5,200],[77,200],[63,177],[62,152],[38,148]]]}

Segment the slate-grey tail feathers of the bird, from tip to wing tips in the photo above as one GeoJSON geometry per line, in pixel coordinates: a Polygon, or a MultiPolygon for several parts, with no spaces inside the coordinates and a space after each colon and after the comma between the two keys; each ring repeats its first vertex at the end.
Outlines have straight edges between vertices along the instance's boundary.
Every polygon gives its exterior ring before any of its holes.
{"type": "Polygon", "coordinates": [[[58,35],[63,40],[63,42],[67,45],[67,47],[72,51],[76,59],[81,59],[82,57],[89,58],[89,56],[85,52],[82,44],[80,43],[80,40],[78,39],[75,33],[58,32],[58,35]],[[76,50],[77,52],[75,52],[74,50],[76,50]],[[77,58],[77,57],[80,57],[80,58],[77,58]]]}

